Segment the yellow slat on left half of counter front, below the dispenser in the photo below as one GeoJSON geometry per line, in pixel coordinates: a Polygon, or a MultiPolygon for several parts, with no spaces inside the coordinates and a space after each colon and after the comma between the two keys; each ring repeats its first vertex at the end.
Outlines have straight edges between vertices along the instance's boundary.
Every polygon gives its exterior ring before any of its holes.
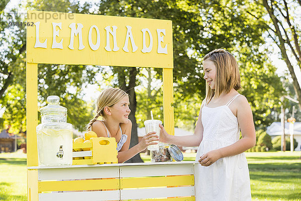
{"type": "Polygon", "coordinates": [[[39,191],[118,189],[119,179],[39,181],[39,191]]]}

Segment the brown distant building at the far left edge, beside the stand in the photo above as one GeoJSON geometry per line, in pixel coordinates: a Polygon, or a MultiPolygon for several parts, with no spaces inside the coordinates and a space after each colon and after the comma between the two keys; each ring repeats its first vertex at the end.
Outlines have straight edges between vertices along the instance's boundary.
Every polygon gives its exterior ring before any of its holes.
{"type": "MultiPolygon", "coordinates": [[[[19,137],[18,137],[19,138],[19,137]]],[[[14,152],[17,150],[17,136],[7,130],[0,133],[0,153],[14,152]]]]}

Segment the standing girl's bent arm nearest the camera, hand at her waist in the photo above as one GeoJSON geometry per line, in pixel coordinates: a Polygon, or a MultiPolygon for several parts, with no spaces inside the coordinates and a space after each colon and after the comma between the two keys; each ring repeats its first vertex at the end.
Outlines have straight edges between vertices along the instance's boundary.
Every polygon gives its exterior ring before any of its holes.
{"type": "MultiPolygon", "coordinates": [[[[256,143],[255,127],[250,105],[246,97],[240,95],[235,99],[237,107],[237,120],[242,138],[232,145],[212,150],[201,156],[201,165],[209,166],[220,158],[234,156],[252,148],[256,143]],[[237,99],[237,100],[236,100],[237,99]]],[[[232,103],[233,104],[233,103],[232,103]]]]}

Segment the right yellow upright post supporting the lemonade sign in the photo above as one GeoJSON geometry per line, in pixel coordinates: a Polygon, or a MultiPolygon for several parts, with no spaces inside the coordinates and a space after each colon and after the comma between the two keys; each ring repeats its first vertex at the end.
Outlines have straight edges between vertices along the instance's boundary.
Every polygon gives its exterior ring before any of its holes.
{"type": "Polygon", "coordinates": [[[173,69],[163,69],[163,118],[164,127],[168,134],[175,134],[174,122],[174,90],[173,90],[173,69]]]}

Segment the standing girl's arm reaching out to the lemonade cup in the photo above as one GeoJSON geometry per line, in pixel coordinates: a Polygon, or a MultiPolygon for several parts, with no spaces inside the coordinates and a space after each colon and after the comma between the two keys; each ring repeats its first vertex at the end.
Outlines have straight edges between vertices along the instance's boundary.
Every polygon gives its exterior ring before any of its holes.
{"type": "MultiPolygon", "coordinates": [[[[204,103],[204,100],[203,100],[203,103],[204,103]]],[[[198,118],[195,132],[193,135],[186,135],[186,136],[169,135],[165,131],[164,127],[162,125],[160,125],[160,128],[161,128],[160,141],[164,142],[164,143],[183,146],[183,147],[199,146],[203,139],[203,131],[204,131],[203,124],[202,124],[202,108],[204,106],[203,103],[201,105],[199,118],[198,118]]]]}

